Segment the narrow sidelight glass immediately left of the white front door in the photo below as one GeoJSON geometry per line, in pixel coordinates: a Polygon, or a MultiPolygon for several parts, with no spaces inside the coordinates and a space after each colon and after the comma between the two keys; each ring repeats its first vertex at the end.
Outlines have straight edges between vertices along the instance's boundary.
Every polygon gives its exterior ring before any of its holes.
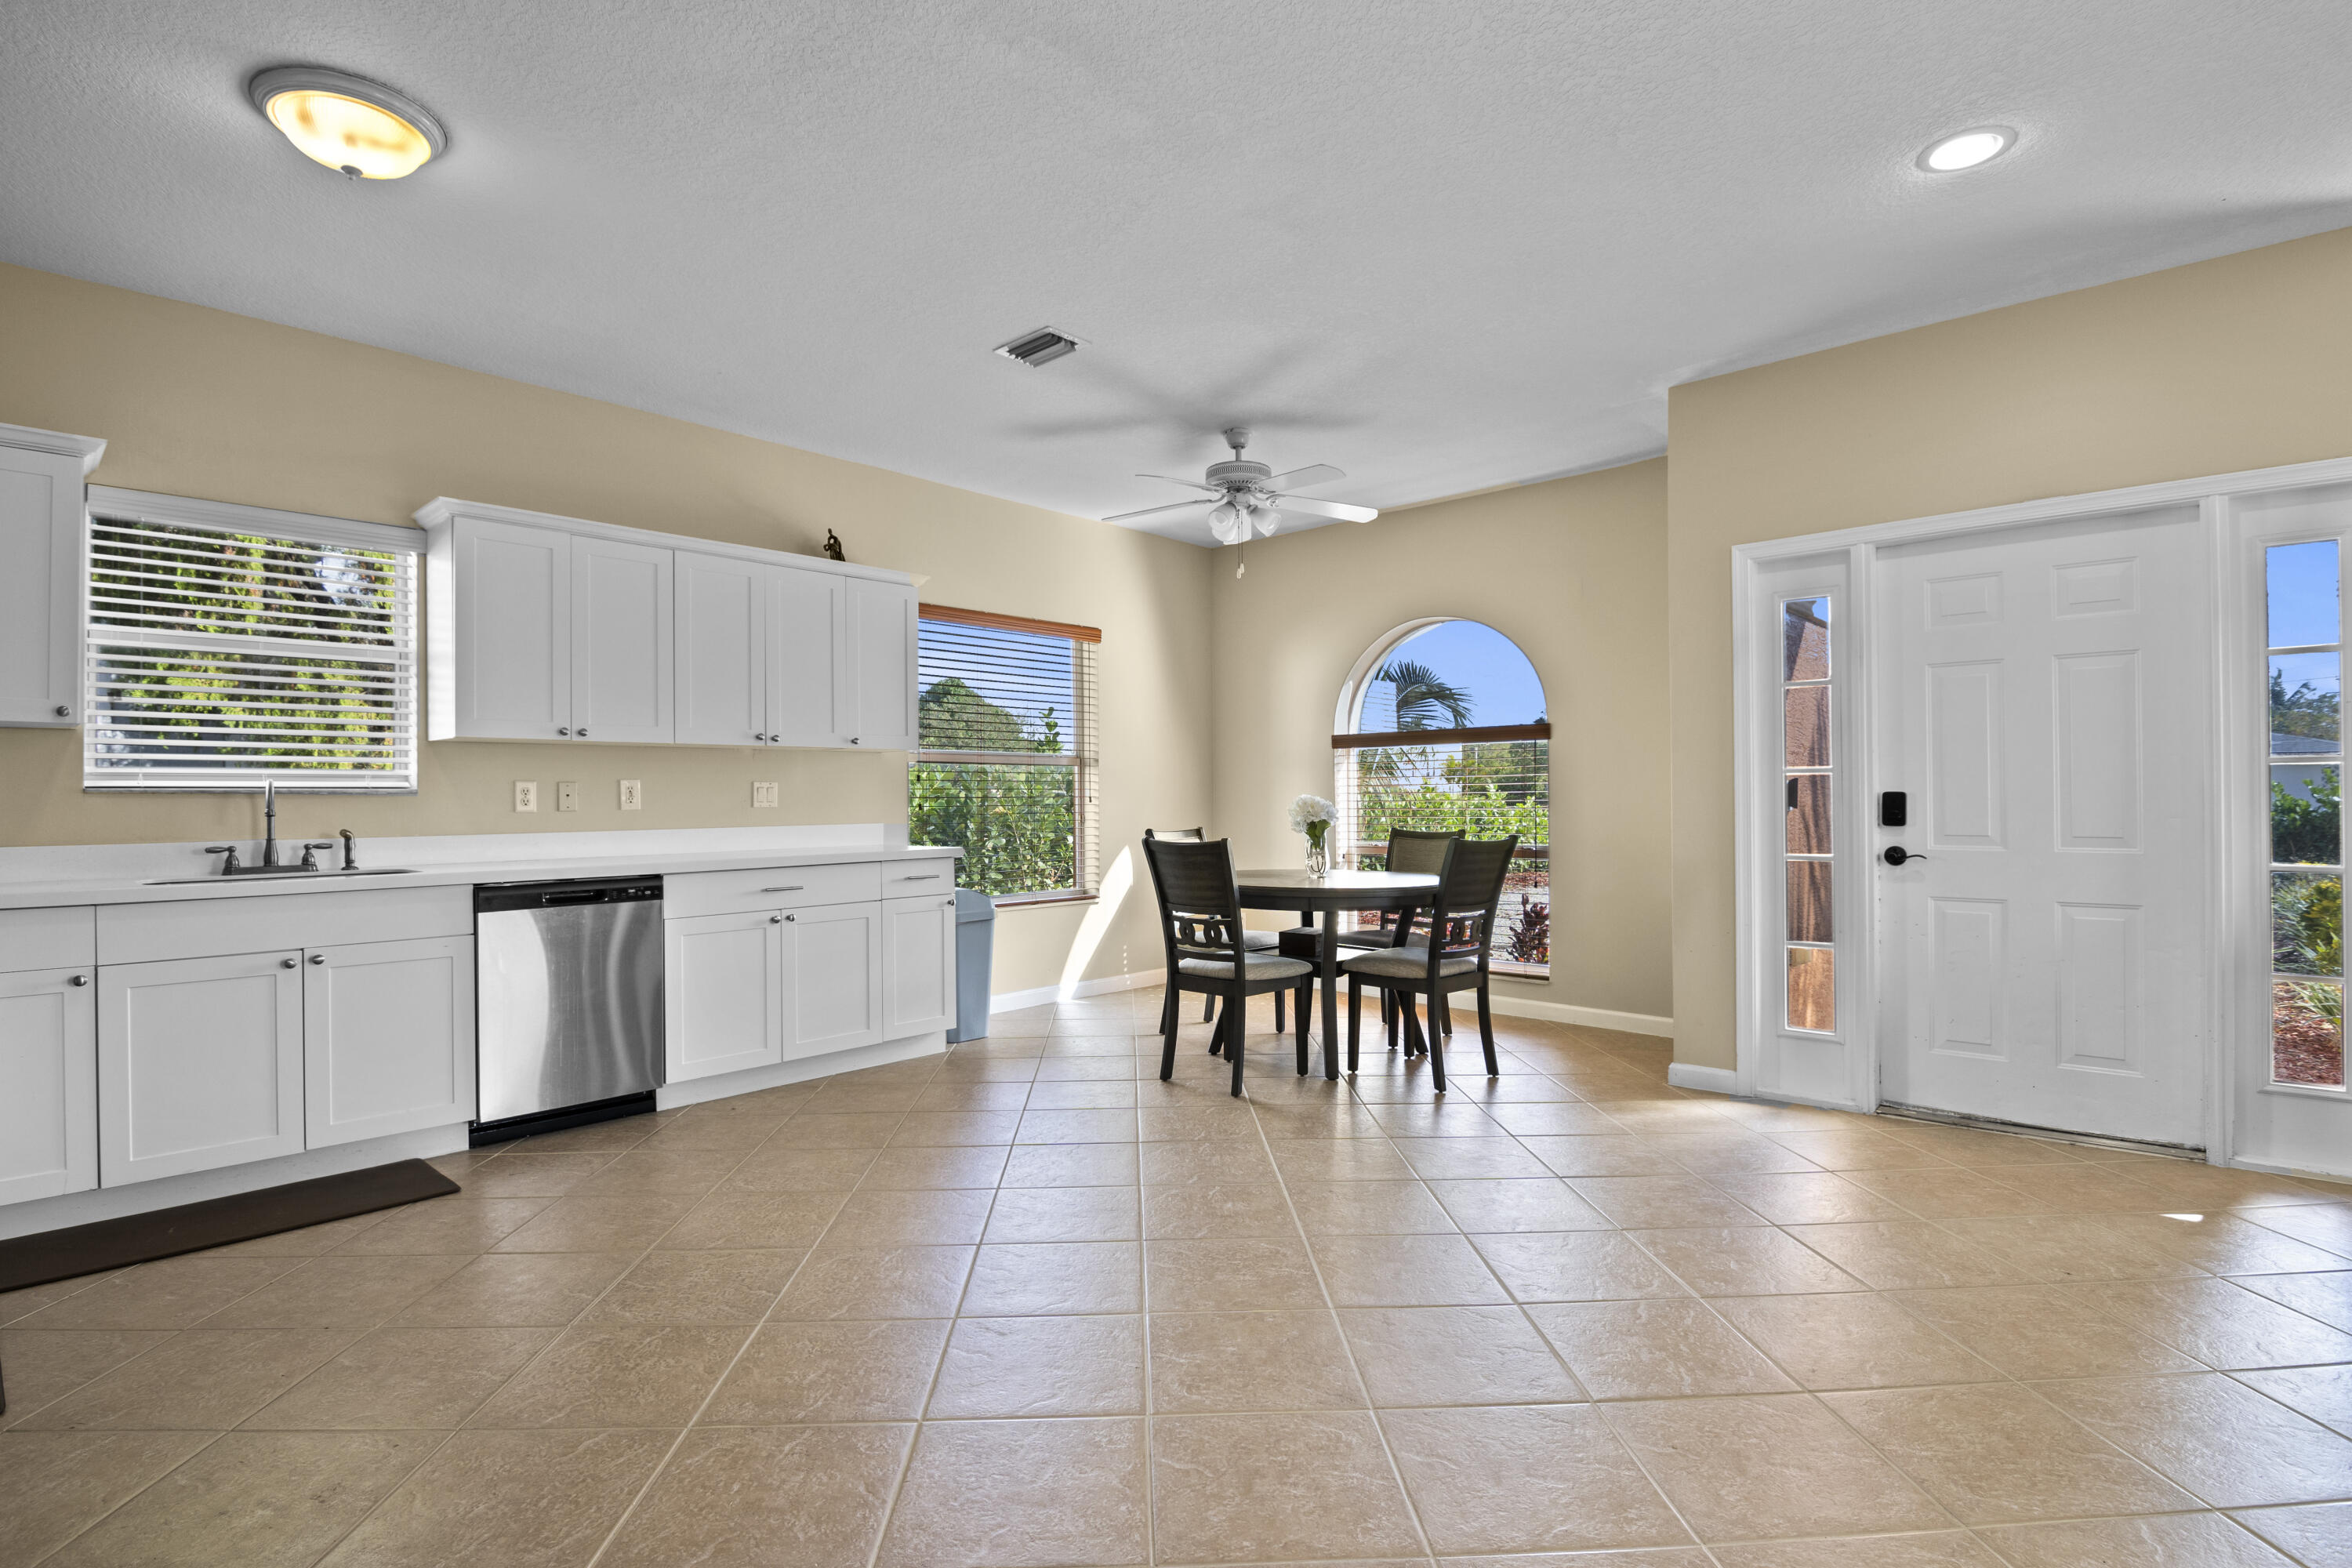
{"type": "Polygon", "coordinates": [[[1837,926],[1830,903],[1830,602],[1780,602],[1780,736],[1788,875],[1788,1027],[1837,1027],[1837,926]]]}

